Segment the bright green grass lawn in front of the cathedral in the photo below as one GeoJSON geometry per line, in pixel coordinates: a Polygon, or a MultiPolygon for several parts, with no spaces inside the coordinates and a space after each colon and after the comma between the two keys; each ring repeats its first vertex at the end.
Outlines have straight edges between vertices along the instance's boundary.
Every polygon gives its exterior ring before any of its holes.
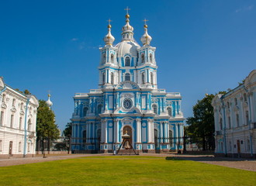
{"type": "Polygon", "coordinates": [[[164,157],[112,156],[0,167],[0,185],[256,185],[256,172],[164,157]]]}

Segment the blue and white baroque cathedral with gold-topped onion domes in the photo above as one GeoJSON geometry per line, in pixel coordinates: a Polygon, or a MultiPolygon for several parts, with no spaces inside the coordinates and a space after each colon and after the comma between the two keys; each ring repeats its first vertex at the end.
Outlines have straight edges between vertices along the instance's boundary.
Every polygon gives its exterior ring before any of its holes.
{"type": "Polygon", "coordinates": [[[147,24],[140,46],[129,19],[127,13],[122,40],[116,45],[109,23],[106,45],[99,48],[99,89],[74,95],[71,122],[76,152],[113,152],[125,133],[137,152],[182,150],[182,96],[157,88],[156,48],[150,46],[147,24]]]}

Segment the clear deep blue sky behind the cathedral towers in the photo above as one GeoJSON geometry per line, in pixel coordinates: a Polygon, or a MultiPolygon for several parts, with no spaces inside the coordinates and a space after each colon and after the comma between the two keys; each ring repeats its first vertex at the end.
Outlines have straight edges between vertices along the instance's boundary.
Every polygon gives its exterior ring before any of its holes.
{"type": "Polygon", "coordinates": [[[115,43],[130,7],[140,43],[143,19],[157,47],[158,88],[182,93],[185,117],[206,93],[237,87],[256,67],[255,1],[2,1],[0,76],[54,102],[61,129],[76,92],[98,88],[99,47],[112,19],[115,43]]]}

